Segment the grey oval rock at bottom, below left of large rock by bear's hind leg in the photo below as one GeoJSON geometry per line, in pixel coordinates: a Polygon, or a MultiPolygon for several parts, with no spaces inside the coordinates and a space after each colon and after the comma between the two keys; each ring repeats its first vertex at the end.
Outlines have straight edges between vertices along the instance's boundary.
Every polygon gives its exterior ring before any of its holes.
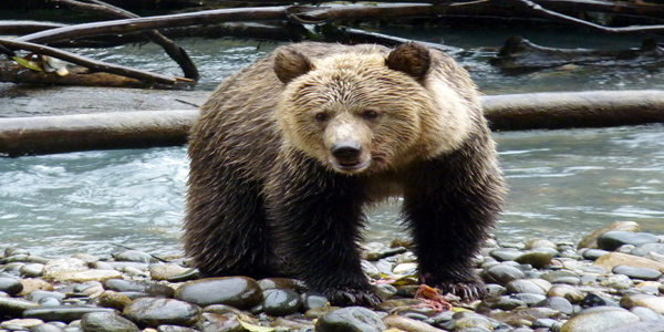
{"type": "Polygon", "coordinates": [[[141,298],[127,304],[123,315],[142,328],[162,324],[193,325],[200,315],[200,308],[184,301],[163,298],[141,298]]]}

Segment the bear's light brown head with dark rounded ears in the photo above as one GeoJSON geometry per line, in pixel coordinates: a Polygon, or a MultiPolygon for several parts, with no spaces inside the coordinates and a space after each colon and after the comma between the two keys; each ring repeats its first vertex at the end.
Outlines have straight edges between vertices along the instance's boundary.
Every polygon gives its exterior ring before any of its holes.
{"type": "Polygon", "coordinates": [[[416,43],[390,53],[374,48],[323,58],[282,48],[274,73],[286,84],[277,107],[286,144],[349,175],[452,149],[466,135],[458,123],[468,123],[469,115],[446,110],[464,102],[447,85],[437,86],[432,71],[429,50],[416,43]]]}

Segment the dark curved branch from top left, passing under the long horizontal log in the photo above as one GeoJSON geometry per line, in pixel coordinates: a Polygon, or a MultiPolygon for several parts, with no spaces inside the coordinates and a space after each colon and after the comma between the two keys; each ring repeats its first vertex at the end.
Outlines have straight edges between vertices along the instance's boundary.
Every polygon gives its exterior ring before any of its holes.
{"type": "MultiPolygon", "coordinates": [[[[87,0],[87,2],[90,2],[90,3],[83,3],[83,2],[74,1],[74,0],[54,0],[54,1],[70,6],[74,9],[103,13],[107,17],[116,18],[116,19],[138,18],[138,15],[136,15],[129,11],[126,11],[122,8],[117,8],[115,6],[112,6],[112,4],[108,4],[108,3],[105,3],[105,2],[98,1],[98,0],[87,0]]],[[[196,69],[196,65],[194,64],[194,62],[191,62],[191,59],[189,58],[189,55],[183,48],[176,45],[170,39],[166,38],[165,35],[163,35],[162,33],[159,33],[156,30],[145,31],[145,32],[143,32],[143,35],[147,37],[151,41],[153,41],[154,43],[162,46],[164,49],[164,51],[166,51],[166,54],[168,54],[168,56],[170,56],[170,59],[173,59],[180,66],[185,77],[198,81],[198,79],[199,79],[198,69],[196,69]]]]}

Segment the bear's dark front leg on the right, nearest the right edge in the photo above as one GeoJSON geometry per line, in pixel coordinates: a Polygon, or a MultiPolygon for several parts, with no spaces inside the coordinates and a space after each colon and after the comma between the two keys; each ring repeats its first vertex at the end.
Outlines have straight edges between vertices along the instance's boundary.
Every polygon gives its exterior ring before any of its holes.
{"type": "Polygon", "coordinates": [[[473,259],[500,210],[504,185],[494,157],[467,147],[418,165],[406,181],[403,215],[419,281],[443,293],[484,297],[473,259]]]}

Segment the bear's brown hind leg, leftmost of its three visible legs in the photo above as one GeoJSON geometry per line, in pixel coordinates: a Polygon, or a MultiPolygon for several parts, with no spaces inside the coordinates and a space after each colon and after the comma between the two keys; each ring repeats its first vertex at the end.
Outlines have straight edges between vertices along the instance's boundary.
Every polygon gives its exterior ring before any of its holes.
{"type": "Polygon", "coordinates": [[[243,180],[226,166],[203,164],[191,164],[184,234],[187,256],[207,277],[278,276],[260,184],[243,180]]]}

